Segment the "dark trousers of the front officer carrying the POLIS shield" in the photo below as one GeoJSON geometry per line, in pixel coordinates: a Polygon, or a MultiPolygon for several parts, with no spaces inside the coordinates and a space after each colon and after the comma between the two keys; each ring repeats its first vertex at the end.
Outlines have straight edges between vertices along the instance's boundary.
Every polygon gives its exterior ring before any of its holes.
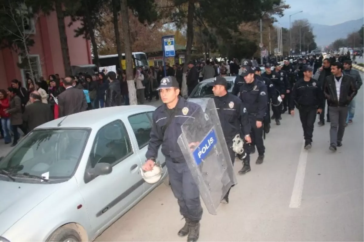
{"type": "Polygon", "coordinates": [[[166,157],[166,166],[174,197],[178,201],[179,212],[184,218],[193,222],[200,221],[203,213],[200,193],[187,163],[173,163],[171,158],[166,157]]]}

